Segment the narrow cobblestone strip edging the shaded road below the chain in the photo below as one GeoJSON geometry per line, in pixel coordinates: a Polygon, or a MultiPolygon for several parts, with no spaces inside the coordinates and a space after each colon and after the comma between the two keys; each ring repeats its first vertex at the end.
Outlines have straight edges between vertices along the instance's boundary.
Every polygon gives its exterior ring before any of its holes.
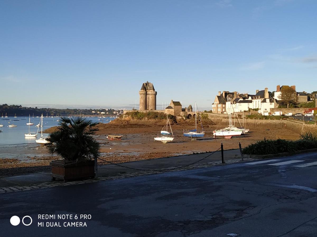
{"type": "Polygon", "coordinates": [[[135,176],[141,176],[141,175],[149,175],[149,174],[159,174],[159,173],[166,173],[166,172],[173,172],[173,171],[180,171],[180,170],[189,170],[189,169],[196,169],[196,168],[205,168],[205,167],[212,167],[217,165],[226,165],[226,164],[233,164],[237,162],[244,162],[244,161],[254,161],[258,159],[253,158],[244,158],[243,161],[241,159],[233,159],[233,160],[226,160],[225,164],[222,164],[221,161],[213,161],[208,163],[200,163],[200,164],[194,164],[191,166],[183,167],[180,166],[177,167],[169,167],[164,169],[158,169],[156,171],[140,171],[135,173],[120,173],[114,176],[107,176],[103,177],[100,176],[98,179],[86,179],[86,180],[80,180],[80,181],[72,181],[72,182],[45,182],[41,184],[31,184],[31,185],[23,185],[23,186],[9,186],[9,187],[2,187],[0,188],[0,194],[2,193],[8,193],[8,192],[19,192],[19,191],[27,191],[32,189],[40,189],[40,188],[50,188],[50,187],[56,187],[56,186],[67,186],[67,185],[77,185],[77,184],[86,184],[86,183],[94,183],[94,182],[100,182],[105,180],[112,180],[112,179],[124,179],[124,178],[131,178],[135,176]],[[171,170],[168,170],[171,169],[171,170]]]}

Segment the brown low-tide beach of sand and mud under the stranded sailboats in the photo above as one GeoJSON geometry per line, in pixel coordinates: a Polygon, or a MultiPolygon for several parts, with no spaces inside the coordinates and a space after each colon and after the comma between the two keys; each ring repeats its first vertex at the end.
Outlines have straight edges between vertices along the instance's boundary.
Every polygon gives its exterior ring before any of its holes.
{"type": "MultiPolygon", "coordinates": [[[[204,123],[204,138],[191,141],[190,138],[183,136],[184,129],[192,129],[194,126],[194,122],[188,120],[181,124],[171,125],[175,137],[174,141],[162,144],[154,141],[154,137],[160,136],[159,132],[163,127],[161,121],[145,124],[125,124],[125,121],[116,121],[97,126],[99,131],[95,138],[101,145],[101,158],[114,163],[209,152],[219,149],[221,143],[223,143],[223,148],[227,150],[238,149],[239,142],[242,147],[245,147],[257,140],[264,139],[264,137],[266,139],[276,139],[281,136],[287,136],[288,139],[298,139],[299,137],[299,134],[285,128],[256,127],[256,129],[251,128],[249,133],[239,137],[231,139],[213,138],[212,132],[215,129],[223,128],[223,125],[215,125],[215,123],[209,121],[209,123],[204,123]],[[109,141],[107,135],[118,134],[118,124],[120,124],[119,134],[123,135],[122,140],[109,141]]],[[[54,131],[54,129],[52,128],[50,131],[54,131]]],[[[38,144],[3,145],[0,149],[2,151],[0,170],[3,171],[0,173],[4,175],[11,173],[10,170],[15,171],[15,173],[23,173],[24,167],[29,167],[24,168],[28,173],[42,171],[38,167],[47,170],[49,162],[58,159],[56,156],[51,157],[47,154],[45,146],[39,146],[38,144]]],[[[99,161],[99,163],[105,162],[99,161]]]]}

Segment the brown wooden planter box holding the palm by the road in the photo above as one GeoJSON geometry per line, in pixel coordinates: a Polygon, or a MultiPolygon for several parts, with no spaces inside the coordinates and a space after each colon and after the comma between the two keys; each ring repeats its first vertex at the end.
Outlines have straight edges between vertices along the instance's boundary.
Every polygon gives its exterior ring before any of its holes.
{"type": "Polygon", "coordinates": [[[94,161],[78,162],[73,161],[51,161],[49,164],[52,166],[52,180],[64,179],[76,180],[95,177],[94,161]]]}

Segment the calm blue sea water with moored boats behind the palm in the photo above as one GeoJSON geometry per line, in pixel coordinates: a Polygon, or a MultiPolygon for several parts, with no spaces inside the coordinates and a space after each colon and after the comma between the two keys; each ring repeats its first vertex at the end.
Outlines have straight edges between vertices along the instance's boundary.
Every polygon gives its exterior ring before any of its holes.
{"type": "MultiPolygon", "coordinates": [[[[43,118],[43,130],[48,129],[50,127],[54,127],[58,125],[58,122],[56,121],[58,118],[43,118]]],[[[98,121],[97,117],[90,117],[87,119],[91,119],[95,122],[102,122],[98,121]]],[[[111,120],[115,118],[106,117],[103,119],[104,123],[109,123],[111,120]],[[106,121],[109,120],[109,121],[106,121]]],[[[29,132],[29,126],[26,125],[26,123],[29,122],[29,117],[8,117],[8,118],[1,118],[0,117],[0,124],[3,124],[4,126],[0,128],[0,130],[3,130],[0,132],[0,145],[11,145],[11,144],[26,144],[26,143],[35,143],[35,137],[29,138],[24,137],[25,133],[29,132]],[[4,120],[9,119],[9,120],[4,120]],[[18,120],[18,121],[14,121],[18,120]],[[17,127],[10,128],[8,125],[17,125],[17,127]]],[[[32,118],[31,122],[34,123],[34,125],[30,126],[30,132],[37,132],[38,127],[36,127],[37,124],[40,123],[40,118],[32,118]]],[[[37,135],[38,138],[41,137],[41,127],[38,130],[39,134],[37,135]]],[[[47,136],[48,134],[43,134],[43,136],[47,136]]]]}

